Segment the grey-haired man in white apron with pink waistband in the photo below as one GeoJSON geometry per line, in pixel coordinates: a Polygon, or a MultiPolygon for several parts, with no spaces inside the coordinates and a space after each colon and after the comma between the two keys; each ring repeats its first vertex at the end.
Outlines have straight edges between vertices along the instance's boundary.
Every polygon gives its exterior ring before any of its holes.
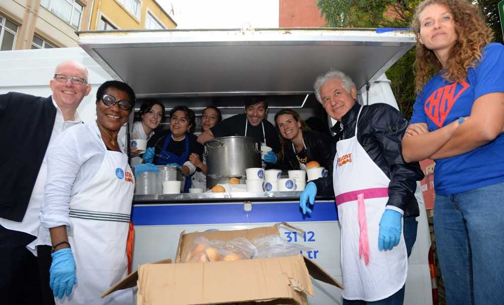
{"type": "Polygon", "coordinates": [[[302,212],[311,212],[316,194],[334,191],[343,304],[402,304],[419,215],[414,192],[423,178],[419,164],[407,164],[401,155],[407,121],[390,105],[356,103],[355,85],[341,71],[321,75],[314,88],[338,121],[333,127],[337,142],[333,176],[306,185],[302,212]]]}

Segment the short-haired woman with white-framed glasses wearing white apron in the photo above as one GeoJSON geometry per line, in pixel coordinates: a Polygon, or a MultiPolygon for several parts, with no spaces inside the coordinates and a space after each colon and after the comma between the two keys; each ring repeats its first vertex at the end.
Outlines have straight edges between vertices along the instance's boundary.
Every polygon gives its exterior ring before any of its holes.
{"type": "Polygon", "coordinates": [[[127,275],[135,180],[117,134],[134,105],[130,86],[105,82],[96,94],[96,121],[69,128],[48,149],[40,220],[53,246],[56,304],[134,303],[131,288],[100,297],[127,275]]]}

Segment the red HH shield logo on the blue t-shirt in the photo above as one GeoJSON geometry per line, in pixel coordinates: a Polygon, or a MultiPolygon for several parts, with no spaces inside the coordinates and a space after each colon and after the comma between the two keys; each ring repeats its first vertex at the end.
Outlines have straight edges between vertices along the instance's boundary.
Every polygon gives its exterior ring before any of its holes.
{"type": "Polygon", "coordinates": [[[466,82],[455,82],[432,92],[425,100],[425,114],[439,128],[443,127],[443,123],[450,114],[453,105],[467,88],[469,88],[469,84],[466,82]]]}

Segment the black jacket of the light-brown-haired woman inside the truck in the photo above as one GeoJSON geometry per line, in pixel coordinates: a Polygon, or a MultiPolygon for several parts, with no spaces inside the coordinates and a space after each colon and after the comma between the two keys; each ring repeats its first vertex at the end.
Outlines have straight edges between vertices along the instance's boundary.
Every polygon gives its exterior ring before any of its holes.
{"type": "MultiPolygon", "coordinates": [[[[321,166],[325,167],[329,173],[332,173],[334,156],[332,158],[331,137],[317,131],[303,131],[303,141],[304,145],[306,145],[306,163],[317,161],[321,166]]],[[[282,152],[282,163],[285,165],[282,168],[299,170],[299,161],[294,153],[291,141],[285,141],[282,152]]]]}

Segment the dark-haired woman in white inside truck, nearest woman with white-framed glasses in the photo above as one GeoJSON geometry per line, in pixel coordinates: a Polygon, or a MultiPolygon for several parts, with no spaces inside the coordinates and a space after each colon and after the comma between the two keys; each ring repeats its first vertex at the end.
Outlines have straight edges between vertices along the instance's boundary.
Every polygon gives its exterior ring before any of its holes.
{"type": "MultiPolygon", "coordinates": [[[[142,103],[142,106],[140,106],[140,121],[133,123],[130,139],[148,141],[154,135],[154,130],[163,121],[164,114],[165,109],[163,103],[159,101],[146,101],[142,103]]],[[[137,149],[132,148],[131,152],[135,154],[137,149]]],[[[131,165],[142,164],[142,158],[137,156],[132,158],[131,165]]]]}

